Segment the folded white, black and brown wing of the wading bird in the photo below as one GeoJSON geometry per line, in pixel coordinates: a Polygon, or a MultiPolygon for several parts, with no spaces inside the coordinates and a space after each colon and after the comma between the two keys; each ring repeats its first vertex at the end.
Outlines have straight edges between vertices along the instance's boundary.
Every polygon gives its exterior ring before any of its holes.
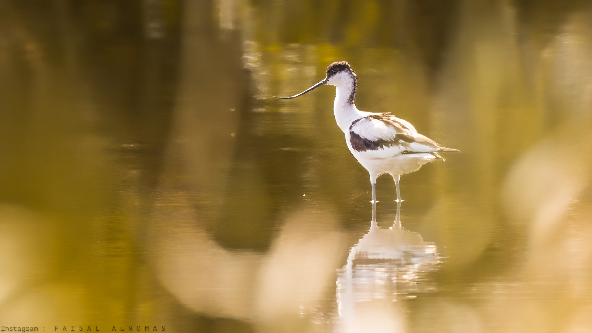
{"type": "Polygon", "coordinates": [[[390,113],[371,114],[353,121],[349,127],[350,143],[358,152],[377,151],[393,146],[400,153],[433,153],[443,150],[436,142],[417,133],[403,119],[390,113]]]}

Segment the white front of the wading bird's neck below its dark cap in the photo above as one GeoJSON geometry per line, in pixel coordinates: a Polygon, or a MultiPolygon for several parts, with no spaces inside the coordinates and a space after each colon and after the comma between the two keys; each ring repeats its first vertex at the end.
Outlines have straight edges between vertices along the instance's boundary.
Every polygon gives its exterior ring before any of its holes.
{"type": "Polygon", "coordinates": [[[358,111],[353,103],[356,96],[356,81],[339,82],[335,89],[335,101],[333,103],[333,113],[337,126],[343,133],[349,133],[349,126],[352,121],[362,117],[361,111],[358,111]]]}

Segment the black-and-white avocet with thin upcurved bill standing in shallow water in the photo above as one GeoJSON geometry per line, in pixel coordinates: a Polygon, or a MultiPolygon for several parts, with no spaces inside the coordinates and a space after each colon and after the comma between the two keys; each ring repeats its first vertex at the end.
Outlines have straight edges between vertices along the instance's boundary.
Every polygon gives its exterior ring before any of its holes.
{"type": "Polygon", "coordinates": [[[333,103],[335,120],[337,126],[345,133],[349,151],[370,174],[372,203],[378,202],[376,178],[379,175],[392,175],[397,187],[397,202],[401,202],[401,175],[417,171],[422,165],[437,158],[444,161],[438,154],[440,151],[458,152],[420,135],[408,121],[398,119],[390,113],[359,111],[353,104],[358,80],[349,63],[345,61],[329,65],[327,76],[313,87],[291,97],[277,98],[296,98],[325,84],[337,87],[333,103]]]}

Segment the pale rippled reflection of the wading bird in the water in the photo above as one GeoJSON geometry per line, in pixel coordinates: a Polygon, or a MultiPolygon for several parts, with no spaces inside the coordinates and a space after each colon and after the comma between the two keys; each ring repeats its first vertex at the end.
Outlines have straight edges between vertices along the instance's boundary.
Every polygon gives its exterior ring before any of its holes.
{"type": "Polygon", "coordinates": [[[400,212],[398,202],[394,224],[381,229],[372,204],[370,230],[337,274],[338,332],[406,332],[403,301],[436,291],[427,278],[440,262],[436,245],[402,229],[400,212]]]}

